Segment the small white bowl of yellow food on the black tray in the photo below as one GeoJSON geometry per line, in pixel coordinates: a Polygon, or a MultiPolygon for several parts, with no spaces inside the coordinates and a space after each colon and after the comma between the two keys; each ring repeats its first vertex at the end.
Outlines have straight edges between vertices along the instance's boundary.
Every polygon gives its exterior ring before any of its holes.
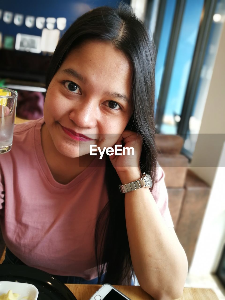
{"type": "Polygon", "coordinates": [[[37,300],[38,298],[38,289],[33,284],[15,281],[0,281],[0,295],[7,294],[10,289],[13,294],[19,294],[18,300],[23,297],[28,297],[27,300],[37,300]]]}

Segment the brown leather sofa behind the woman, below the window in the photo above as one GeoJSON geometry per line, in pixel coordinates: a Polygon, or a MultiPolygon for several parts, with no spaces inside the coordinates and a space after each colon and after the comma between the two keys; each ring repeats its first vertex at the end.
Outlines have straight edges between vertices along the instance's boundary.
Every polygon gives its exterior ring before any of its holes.
{"type": "Polygon", "coordinates": [[[210,187],[196,176],[188,159],[180,154],[183,139],[178,135],[156,134],[158,163],[165,173],[169,209],[174,229],[190,266],[201,228],[210,187]]]}

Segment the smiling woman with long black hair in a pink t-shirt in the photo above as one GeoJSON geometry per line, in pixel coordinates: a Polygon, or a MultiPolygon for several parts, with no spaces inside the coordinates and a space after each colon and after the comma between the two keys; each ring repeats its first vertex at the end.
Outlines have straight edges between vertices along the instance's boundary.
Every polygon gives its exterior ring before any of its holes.
{"type": "Polygon", "coordinates": [[[155,299],[182,295],[187,257],[157,163],[154,73],[153,42],[126,4],[91,10],[65,32],[47,74],[44,119],[16,125],[0,159],[1,226],[14,262],[63,282],[130,284],[135,272],[155,299]],[[90,145],[116,144],[134,155],[90,155],[90,145]],[[120,192],[144,172],[152,187],[120,192]]]}

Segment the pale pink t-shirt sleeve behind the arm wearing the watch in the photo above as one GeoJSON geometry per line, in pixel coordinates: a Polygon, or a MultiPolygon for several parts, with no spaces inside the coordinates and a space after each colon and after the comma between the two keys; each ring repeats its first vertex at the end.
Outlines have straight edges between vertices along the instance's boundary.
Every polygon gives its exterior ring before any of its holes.
{"type": "Polygon", "coordinates": [[[165,184],[165,173],[157,162],[157,181],[152,189],[152,196],[159,208],[159,211],[168,227],[174,227],[173,220],[168,207],[168,192],[165,184]]]}

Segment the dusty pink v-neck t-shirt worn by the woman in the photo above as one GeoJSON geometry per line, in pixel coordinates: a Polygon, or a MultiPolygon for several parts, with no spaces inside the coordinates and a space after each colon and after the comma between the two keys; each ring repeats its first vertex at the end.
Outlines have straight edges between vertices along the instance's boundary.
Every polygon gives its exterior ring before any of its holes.
{"type": "MultiPolygon", "coordinates": [[[[105,159],[97,155],[71,182],[58,183],[42,150],[42,124],[44,118],[15,125],[12,149],[0,155],[3,238],[26,265],[91,280],[98,276],[95,223],[108,202],[105,159]]],[[[158,171],[152,196],[167,226],[172,227],[165,174],[159,165],[158,171]]]]}

